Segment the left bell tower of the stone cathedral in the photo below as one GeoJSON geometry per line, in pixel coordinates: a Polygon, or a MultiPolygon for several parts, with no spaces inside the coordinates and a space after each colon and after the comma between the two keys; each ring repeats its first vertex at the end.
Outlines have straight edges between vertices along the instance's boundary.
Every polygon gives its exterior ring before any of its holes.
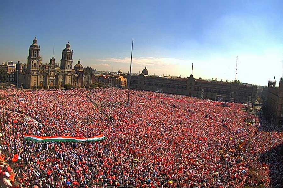
{"type": "Polygon", "coordinates": [[[39,55],[40,46],[37,44],[37,39],[33,39],[32,45],[29,49],[29,56],[27,61],[27,69],[38,70],[41,66],[41,57],[39,55]]]}

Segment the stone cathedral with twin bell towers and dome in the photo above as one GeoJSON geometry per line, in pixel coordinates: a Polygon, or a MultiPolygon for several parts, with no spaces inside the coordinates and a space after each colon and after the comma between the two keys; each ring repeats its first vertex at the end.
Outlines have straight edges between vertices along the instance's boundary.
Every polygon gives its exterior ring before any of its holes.
{"type": "Polygon", "coordinates": [[[71,44],[66,44],[65,49],[62,50],[62,57],[60,66],[56,64],[55,58],[50,58],[48,64],[42,64],[40,56],[40,46],[35,39],[29,48],[29,55],[27,57],[27,64],[18,61],[16,70],[18,72],[18,83],[24,88],[31,86],[64,86],[70,84],[73,86],[85,86],[85,84],[92,83],[92,68],[84,68],[80,64],[73,67],[73,50],[71,44]]]}

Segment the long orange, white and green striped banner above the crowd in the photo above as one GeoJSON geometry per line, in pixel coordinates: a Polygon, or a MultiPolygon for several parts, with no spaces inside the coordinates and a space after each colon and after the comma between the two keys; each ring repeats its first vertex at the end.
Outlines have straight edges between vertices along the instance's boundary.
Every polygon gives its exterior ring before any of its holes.
{"type": "Polygon", "coordinates": [[[70,136],[32,136],[25,135],[25,140],[31,140],[34,142],[97,142],[106,139],[101,134],[95,137],[70,137],[70,136]]]}

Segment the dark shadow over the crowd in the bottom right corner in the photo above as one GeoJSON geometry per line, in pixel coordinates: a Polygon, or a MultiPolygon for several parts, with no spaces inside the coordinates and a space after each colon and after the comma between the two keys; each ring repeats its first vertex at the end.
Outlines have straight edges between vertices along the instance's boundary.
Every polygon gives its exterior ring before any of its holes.
{"type": "Polygon", "coordinates": [[[262,163],[270,165],[270,186],[283,187],[283,143],[260,155],[262,163]]]}

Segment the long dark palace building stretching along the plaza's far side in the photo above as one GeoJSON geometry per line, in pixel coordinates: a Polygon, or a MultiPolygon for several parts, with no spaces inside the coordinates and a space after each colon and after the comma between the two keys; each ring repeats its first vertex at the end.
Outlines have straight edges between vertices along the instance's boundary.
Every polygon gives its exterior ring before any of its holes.
{"type": "MultiPolygon", "coordinates": [[[[128,75],[129,81],[129,75],[128,75]]],[[[129,83],[128,83],[129,84],[129,83]]],[[[132,89],[203,97],[230,102],[255,102],[257,86],[239,82],[195,79],[193,75],[182,78],[148,75],[145,68],[141,74],[131,75],[132,89]]]]}

